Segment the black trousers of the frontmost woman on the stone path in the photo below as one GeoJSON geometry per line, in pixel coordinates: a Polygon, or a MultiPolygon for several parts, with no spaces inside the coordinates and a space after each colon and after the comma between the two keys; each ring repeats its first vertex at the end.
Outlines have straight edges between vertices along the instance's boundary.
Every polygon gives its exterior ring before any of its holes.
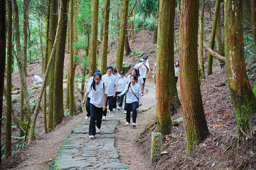
{"type": "Polygon", "coordinates": [[[96,107],[94,104],[90,103],[90,111],[91,111],[91,118],[89,124],[89,135],[96,135],[96,128],[101,128],[101,119],[102,119],[102,107],[96,107]],[[96,120],[96,122],[95,122],[96,120]]]}

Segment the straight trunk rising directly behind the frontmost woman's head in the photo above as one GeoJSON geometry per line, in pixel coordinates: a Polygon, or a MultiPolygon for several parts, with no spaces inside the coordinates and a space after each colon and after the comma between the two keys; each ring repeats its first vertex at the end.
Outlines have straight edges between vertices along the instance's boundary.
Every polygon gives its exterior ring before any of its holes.
{"type": "MultiPolygon", "coordinates": [[[[90,43],[90,77],[93,76],[96,70],[96,57],[97,57],[97,37],[98,37],[98,17],[99,17],[99,0],[94,0],[92,4],[92,33],[90,43]]],[[[70,97],[70,96],[69,96],[70,97]]]]}

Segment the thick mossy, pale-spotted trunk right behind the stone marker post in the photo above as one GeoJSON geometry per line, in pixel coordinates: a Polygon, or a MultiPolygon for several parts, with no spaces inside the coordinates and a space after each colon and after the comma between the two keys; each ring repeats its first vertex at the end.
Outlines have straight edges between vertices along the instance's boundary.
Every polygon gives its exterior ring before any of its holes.
{"type": "Polygon", "coordinates": [[[172,61],[173,65],[168,64],[169,58],[174,60],[174,9],[175,0],[160,0],[156,55],[156,122],[158,132],[162,134],[168,134],[172,131],[169,83],[175,83],[176,85],[176,82],[174,78],[174,61],[172,61]],[[172,67],[170,69],[173,74],[171,79],[169,79],[169,76],[166,76],[165,70],[168,67],[172,67]]]}

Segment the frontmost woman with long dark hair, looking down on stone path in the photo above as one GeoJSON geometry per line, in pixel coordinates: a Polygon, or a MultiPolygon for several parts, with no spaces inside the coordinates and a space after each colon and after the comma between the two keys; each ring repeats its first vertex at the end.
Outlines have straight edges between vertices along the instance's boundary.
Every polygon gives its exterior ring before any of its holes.
{"type": "Polygon", "coordinates": [[[108,97],[108,86],[106,83],[101,81],[101,73],[96,72],[93,76],[92,83],[87,87],[87,92],[85,94],[82,104],[85,103],[86,98],[89,93],[92,93],[90,100],[90,124],[89,124],[89,138],[94,138],[97,132],[101,131],[101,118],[103,111],[106,110],[106,103],[108,97]],[[95,122],[96,120],[96,122],[95,122]]]}

